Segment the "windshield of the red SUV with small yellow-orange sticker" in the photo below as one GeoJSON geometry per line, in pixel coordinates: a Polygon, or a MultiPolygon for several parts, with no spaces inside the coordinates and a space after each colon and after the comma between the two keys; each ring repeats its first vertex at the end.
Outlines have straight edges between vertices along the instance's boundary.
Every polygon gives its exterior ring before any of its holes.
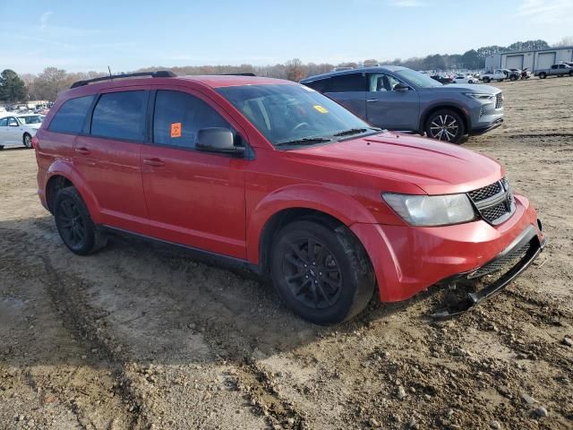
{"type": "Polygon", "coordinates": [[[273,145],[336,142],[379,131],[338,103],[302,85],[244,85],[217,91],[273,145]]]}

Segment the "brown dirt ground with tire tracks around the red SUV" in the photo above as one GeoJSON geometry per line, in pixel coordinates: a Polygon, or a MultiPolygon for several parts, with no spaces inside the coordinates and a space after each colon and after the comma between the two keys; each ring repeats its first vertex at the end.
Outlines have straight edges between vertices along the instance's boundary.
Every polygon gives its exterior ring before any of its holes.
{"type": "Polygon", "coordinates": [[[496,84],[499,159],[549,245],[448,322],[433,297],[301,321],[258,280],[115,237],[71,254],[31,150],[0,152],[1,429],[573,428],[573,78],[496,84]]]}

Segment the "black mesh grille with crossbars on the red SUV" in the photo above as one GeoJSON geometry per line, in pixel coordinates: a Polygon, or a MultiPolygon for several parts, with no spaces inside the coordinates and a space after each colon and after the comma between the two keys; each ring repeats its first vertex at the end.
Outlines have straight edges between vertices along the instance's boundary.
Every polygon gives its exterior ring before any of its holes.
{"type": "Polygon", "coordinates": [[[470,191],[467,196],[484,220],[497,225],[509,219],[516,210],[511,187],[504,177],[498,182],[470,191]]]}

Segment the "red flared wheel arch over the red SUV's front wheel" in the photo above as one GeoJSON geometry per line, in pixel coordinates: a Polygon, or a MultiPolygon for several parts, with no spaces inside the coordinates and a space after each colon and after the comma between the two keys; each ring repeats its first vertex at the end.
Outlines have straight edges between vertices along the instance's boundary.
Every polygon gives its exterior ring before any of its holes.
{"type": "Polygon", "coordinates": [[[247,259],[250,262],[260,262],[261,234],[269,219],[288,209],[320,211],[346,226],[355,222],[376,222],[370,211],[346,193],[322,185],[289,185],[268,194],[247,214],[247,259]]]}

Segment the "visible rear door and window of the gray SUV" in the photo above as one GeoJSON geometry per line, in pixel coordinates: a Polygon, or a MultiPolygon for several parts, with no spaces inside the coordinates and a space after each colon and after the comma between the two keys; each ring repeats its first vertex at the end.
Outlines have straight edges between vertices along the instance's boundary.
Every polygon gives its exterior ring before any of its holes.
{"type": "Polygon", "coordinates": [[[366,120],[366,73],[345,73],[324,82],[324,94],[366,120]]]}

